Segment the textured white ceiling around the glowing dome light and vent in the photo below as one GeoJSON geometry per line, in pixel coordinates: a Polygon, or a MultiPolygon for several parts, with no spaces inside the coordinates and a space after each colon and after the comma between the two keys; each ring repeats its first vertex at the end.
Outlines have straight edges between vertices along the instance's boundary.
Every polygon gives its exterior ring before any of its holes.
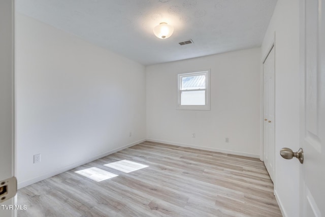
{"type": "Polygon", "coordinates": [[[16,0],[16,10],[143,65],[260,46],[277,0],[16,0]],[[168,39],[152,29],[174,26],[168,39]],[[194,44],[178,42],[192,39],[194,44]]]}

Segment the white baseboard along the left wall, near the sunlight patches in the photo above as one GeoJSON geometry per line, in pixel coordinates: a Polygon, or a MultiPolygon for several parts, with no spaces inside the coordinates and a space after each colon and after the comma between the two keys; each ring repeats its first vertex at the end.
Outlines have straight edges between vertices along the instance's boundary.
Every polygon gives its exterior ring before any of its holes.
{"type": "Polygon", "coordinates": [[[84,165],[84,164],[87,164],[87,163],[89,163],[89,162],[92,162],[92,161],[94,161],[94,160],[97,160],[97,159],[103,158],[103,157],[105,157],[105,156],[108,156],[109,154],[115,153],[115,152],[117,152],[117,151],[123,150],[123,149],[128,148],[128,147],[131,147],[131,146],[134,146],[134,145],[139,144],[139,143],[144,142],[144,141],[146,141],[146,139],[142,139],[142,140],[139,140],[139,141],[133,142],[133,143],[131,143],[131,144],[127,144],[127,145],[124,145],[124,146],[122,146],[122,147],[119,147],[119,148],[116,148],[116,149],[113,149],[113,150],[110,150],[110,151],[104,152],[104,153],[102,153],[102,154],[99,154],[99,155],[96,155],[96,156],[90,157],[90,158],[88,158],[88,159],[86,159],[86,160],[80,161],[80,162],[75,163],[75,164],[71,164],[71,165],[66,166],[66,167],[62,167],[62,168],[60,168],[60,169],[57,169],[57,170],[55,170],[55,171],[52,171],[52,172],[49,172],[49,173],[46,173],[46,174],[43,174],[43,175],[40,175],[40,176],[38,176],[38,177],[31,178],[31,179],[28,179],[28,180],[26,180],[26,181],[18,182],[18,183],[17,183],[17,188],[18,188],[18,189],[24,188],[24,187],[26,187],[26,186],[28,186],[28,185],[30,185],[30,184],[34,184],[34,183],[39,182],[39,181],[42,181],[42,180],[44,180],[44,179],[46,179],[46,178],[50,178],[50,177],[52,177],[52,176],[54,176],[54,175],[60,174],[60,173],[62,173],[62,172],[66,172],[66,171],[71,170],[71,169],[73,169],[73,168],[76,168],[76,167],[79,167],[79,166],[81,166],[81,165],[84,165]]]}

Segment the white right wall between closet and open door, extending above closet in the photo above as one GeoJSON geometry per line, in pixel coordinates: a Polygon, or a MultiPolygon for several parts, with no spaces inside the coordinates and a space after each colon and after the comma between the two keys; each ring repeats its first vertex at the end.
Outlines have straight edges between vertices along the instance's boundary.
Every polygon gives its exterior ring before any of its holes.
{"type": "Polygon", "coordinates": [[[284,216],[299,216],[299,162],[285,160],[282,147],[299,149],[299,1],[278,0],[262,44],[275,37],[275,195],[284,216]]]}

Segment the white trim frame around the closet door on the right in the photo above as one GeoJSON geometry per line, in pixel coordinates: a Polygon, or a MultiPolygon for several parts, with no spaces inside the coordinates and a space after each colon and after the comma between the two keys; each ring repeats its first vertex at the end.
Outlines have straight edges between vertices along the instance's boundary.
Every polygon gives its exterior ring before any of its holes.
{"type": "MultiPolygon", "coordinates": [[[[274,49],[274,119],[273,119],[273,124],[274,124],[274,146],[275,146],[275,128],[276,128],[276,122],[275,122],[275,117],[276,117],[276,112],[275,112],[275,100],[276,100],[276,96],[275,96],[275,77],[276,77],[276,44],[275,44],[275,36],[276,36],[276,33],[274,32],[274,36],[273,36],[273,39],[268,47],[268,49],[266,50],[266,53],[263,55],[263,58],[262,58],[262,63],[261,63],[261,68],[262,68],[262,76],[261,76],[261,120],[260,120],[260,123],[261,123],[261,131],[260,131],[260,138],[261,138],[261,146],[260,146],[260,157],[259,159],[261,161],[264,162],[264,63],[266,61],[266,59],[268,58],[272,48],[274,49]]],[[[274,150],[274,157],[275,157],[275,150],[274,150]]],[[[273,159],[273,184],[274,184],[274,189],[275,189],[275,185],[276,185],[276,166],[275,166],[275,158],[273,159]]]]}

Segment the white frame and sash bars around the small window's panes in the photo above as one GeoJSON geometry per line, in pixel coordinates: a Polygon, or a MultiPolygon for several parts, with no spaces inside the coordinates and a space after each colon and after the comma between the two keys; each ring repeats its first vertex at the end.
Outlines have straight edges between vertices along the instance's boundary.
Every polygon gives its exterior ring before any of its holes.
{"type": "Polygon", "coordinates": [[[210,69],[202,70],[197,72],[181,73],[177,75],[177,109],[180,110],[210,110],[210,69]],[[205,89],[192,89],[192,90],[181,90],[182,77],[191,75],[202,75],[206,76],[206,88],[205,89]],[[181,97],[183,91],[197,91],[205,90],[205,105],[181,105],[181,97]]]}

